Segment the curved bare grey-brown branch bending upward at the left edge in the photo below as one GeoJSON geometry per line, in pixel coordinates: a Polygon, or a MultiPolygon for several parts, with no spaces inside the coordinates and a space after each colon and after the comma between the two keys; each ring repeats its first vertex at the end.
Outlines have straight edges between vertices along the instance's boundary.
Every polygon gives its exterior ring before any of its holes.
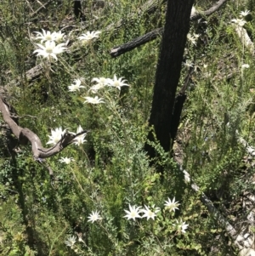
{"type": "Polygon", "coordinates": [[[82,131],[79,134],[70,134],[65,132],[63,137],[56,145],[52,146],[51,148],[44,148],[42,146],[41,139],[39,139],[37,134],[33,133],[29,128],[21,128],[17,122],[14,121],[8,105],[5,104],[1,95],[0,111],[2,112],[4,122],[8,124],[8,127],[11,129],[14,136],[19,139],[20,145],[26,145],[28,141],[30,141],[33,156],[37,160],[58,154],[60,151],[63,151],[66,146],[73,143],[74,139],[76,139],[79,135],[87,133],[87,131],[82,131]]]}

